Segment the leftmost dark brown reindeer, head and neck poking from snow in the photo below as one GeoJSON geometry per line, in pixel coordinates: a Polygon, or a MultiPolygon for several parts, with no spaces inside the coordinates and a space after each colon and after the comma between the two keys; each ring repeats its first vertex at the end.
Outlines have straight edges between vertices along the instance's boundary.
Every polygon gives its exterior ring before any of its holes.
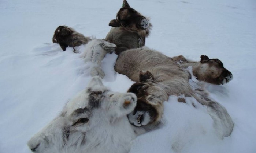
{"type": "MultiPolygon", "coordinates": [[[[82,44],[87,44],[90,40],[92,39],[85,37],[83,34],[78,33],[68,26],[57,27],[52,38],[52,42],[58,43],[63,51],[66,51],[67,47],[76,47],[82,44]]],[[[76,52],[75,48],[74,52],[76,52]]]]}

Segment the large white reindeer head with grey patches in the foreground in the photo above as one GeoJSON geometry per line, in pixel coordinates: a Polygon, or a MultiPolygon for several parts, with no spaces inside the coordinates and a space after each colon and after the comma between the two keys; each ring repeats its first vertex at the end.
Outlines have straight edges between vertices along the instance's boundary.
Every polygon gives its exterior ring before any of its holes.
{"type": "Polygon", "coordinates": [[[94,77],[28,146],[36,153],[128,152],[136,133],[126,115],[136,101],[135,94],[111,92],[94,77]]]}

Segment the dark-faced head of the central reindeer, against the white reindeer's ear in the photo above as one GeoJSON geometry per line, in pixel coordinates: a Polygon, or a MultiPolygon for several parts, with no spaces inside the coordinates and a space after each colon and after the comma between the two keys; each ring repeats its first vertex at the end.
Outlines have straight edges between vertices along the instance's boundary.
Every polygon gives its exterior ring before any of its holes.
{"type": "Polygon", "coordinates": [[[128,119],[135,126],[154,126],[160,122],[163,114],[163,102],[167,101],[166,92],[154,81],[149,72],[140,72],[140,82],[134,83],[128,92],[137,96],[137,105],[128,119]]]}

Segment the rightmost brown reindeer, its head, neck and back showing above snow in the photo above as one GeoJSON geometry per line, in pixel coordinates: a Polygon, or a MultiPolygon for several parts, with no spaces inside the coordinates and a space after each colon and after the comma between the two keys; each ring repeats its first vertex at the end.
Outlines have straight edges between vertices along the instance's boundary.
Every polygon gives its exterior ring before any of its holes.
{"type": "Polygon", "coordinates": [[[209,59],[205,55],[201,55],[200,62],[189,61],[182,55],[173,57],[172,59],[178,62],[183,68],[192,66],[193,75],[200,81],[223,85],[233,79],[232,73],[224,68],[223,63],[219,59],[209,59]]]}

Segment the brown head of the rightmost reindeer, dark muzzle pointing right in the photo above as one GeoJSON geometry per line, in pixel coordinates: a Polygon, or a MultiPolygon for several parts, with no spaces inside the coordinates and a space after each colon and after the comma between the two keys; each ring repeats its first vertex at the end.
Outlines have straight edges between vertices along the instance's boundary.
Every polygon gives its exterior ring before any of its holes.
{"type": "Polygon", "coordinates": [[[209,59],[205,55],[201,55],[200,64],[193,70],[193,74],[199,80],[216,85],[228,83],[233,79],[232,73],[224,68],[219,59],[209,59]]]}

